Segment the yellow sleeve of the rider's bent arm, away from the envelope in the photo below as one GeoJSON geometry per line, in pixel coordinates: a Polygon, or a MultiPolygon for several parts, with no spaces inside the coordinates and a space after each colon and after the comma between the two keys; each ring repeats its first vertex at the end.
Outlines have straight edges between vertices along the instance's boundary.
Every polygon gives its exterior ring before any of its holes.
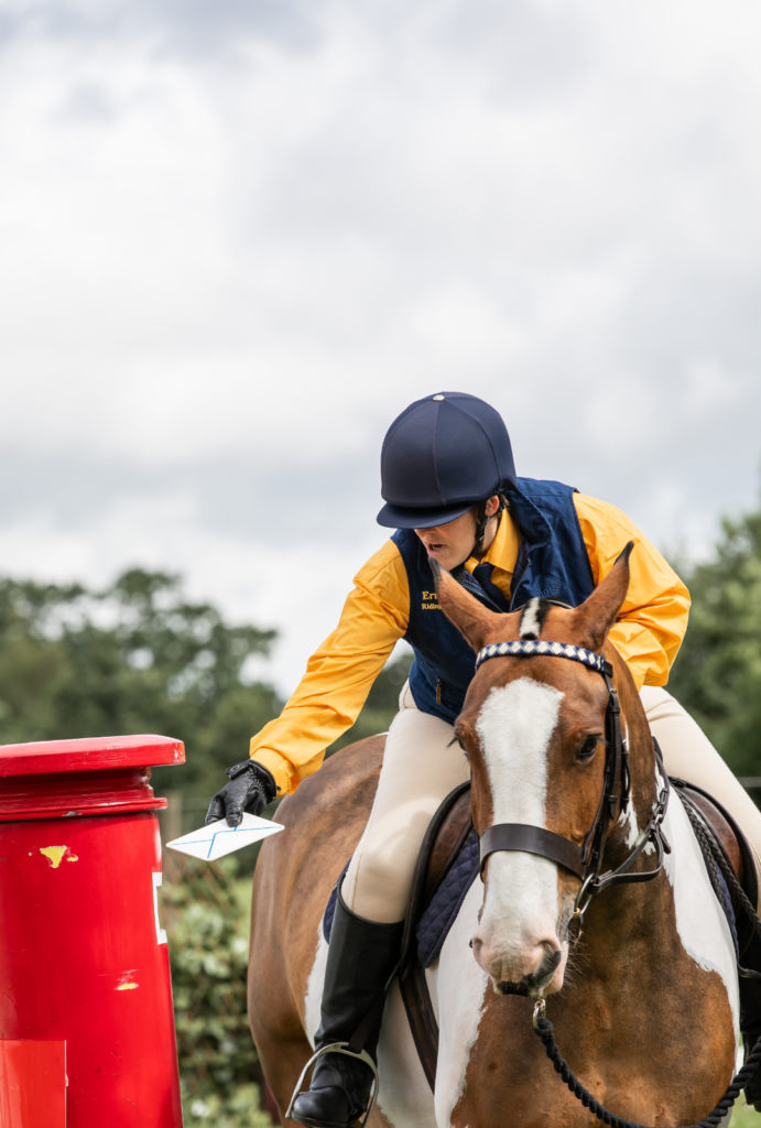
{"type": "Polygon", "coordinates": [[[637,689],[665,686],[682,644],[690,594],[661,553],[614,505],[574,494],[595,585],[605,579],[629,540],[629,591],[609,638],[626,660],[637,689]]]}

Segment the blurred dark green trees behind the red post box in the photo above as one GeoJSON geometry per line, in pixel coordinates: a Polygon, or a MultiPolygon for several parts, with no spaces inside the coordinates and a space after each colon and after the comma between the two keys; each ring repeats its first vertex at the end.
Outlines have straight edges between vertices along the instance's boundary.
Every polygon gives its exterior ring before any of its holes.
{"type": "Polygon", "coordinates": [[[103,591],[2,580],[0,740],[177,737],[187,765],[157,769],[156,786],[211,795],[281,707],[246,678],[273,638],[188,600],[165,572],[131,569],[103,591]]]}

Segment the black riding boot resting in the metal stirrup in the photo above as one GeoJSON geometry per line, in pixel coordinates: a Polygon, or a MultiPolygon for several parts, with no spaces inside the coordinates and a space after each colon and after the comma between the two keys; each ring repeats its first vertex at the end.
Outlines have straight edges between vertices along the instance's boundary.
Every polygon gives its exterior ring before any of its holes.
{"type": "MultiPolygon", "coordinates": [[[[348,1042],[373,1005],[374,1022],[362,1048],[373,1061],[378,1048],[386,985],[399,959],[404,920],[377,924],[346,908],[338,890],[325,970],[322,1011],[315,1048],[348,1042]]],[[[346,1128],[365,1112],[373,1074],[364,1061],[326,1054],[312,1070],[309,1091],[293,1103],[291,1119],[309,1128],[346,1128]]]]}

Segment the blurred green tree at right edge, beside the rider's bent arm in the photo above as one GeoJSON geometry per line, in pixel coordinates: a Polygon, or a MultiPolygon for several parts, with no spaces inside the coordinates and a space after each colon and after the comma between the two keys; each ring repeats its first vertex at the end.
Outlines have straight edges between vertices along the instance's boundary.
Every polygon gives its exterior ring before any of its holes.
{"type": "Polygon", "coordinates": [[[681,574],[692,610],[669,689],[735,773],[761,776],[761,510],[725,520],[713,557],[681,574]]]}

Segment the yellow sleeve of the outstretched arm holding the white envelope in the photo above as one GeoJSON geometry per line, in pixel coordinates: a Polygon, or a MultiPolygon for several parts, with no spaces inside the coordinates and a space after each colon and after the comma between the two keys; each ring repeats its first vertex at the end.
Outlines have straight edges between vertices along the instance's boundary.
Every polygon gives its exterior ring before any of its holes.
{"type": "Polygon", "coordinates": [[[325,749],[354,724],[408,622],[407,573],[389,540],[354,578],[338,626],[281,715],[251,739],[251,759],[269,768],[278,794],[317,772],[325,749]]]}

